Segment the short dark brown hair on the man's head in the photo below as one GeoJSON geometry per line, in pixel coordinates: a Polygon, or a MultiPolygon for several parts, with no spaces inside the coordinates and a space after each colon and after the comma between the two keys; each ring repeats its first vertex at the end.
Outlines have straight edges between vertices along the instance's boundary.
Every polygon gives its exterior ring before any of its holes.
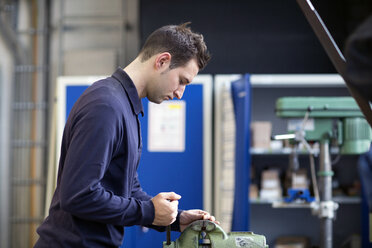
{"type": "Polygon", "coordinates": [[[195,58],[199,70],[202,70],[210,59],[203,35],[194,33],[189,27],[190,22],[180,25],[168,25],[155,30],[146,40],[140,51],[144,62],[162,52],[172,55],[169,68],[184,66],[195,58]]]}

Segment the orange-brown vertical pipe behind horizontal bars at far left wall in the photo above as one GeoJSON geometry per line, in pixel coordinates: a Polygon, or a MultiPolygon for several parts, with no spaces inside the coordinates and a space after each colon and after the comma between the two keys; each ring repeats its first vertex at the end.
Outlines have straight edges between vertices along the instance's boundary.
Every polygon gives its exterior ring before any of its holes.
{"type": "MultiPolygon", "coordinates": [[[[47,67],[47,19],[48,12],[46,6],[46,0],[33,0],[32,1],[32,28],[38,30],[44,30],[43,35],[33,36],[33,61],[32,65],[36,68],[48,68],[47,67]]],[[[47,70],[37,71],[34,70],[32,73],[32,95],[31,102],[37,103],[39,101],[44,101],[47,92],[47,70]]],[[[30,140],[32,143],[41,142],[45,139],[45,129],[42,130],[43,124],[45,124],[45,112],[39,109],[32,109],[31,111],[31,136],[30,140]]],[[[39,178],[43,177],[44,174],[44,163],[38,161],[43,161],[45,159],[45,147],[43,146],[32,146],[30,150],[30,172],[29,178],[31,181],[38,181],[39,178]],[[44,151],[43,151],[44,150],[44,151]],[[40,151],[40,152],[39,152],[40,151]],[[44,154],[44,155],[43,155],[44,154]]],[[[43,212],[42,200],[37,196],[42,195],[42,185],[33,183],[30,185],[30,218],[40,219],[41,213],[43,212]]],[[[36,228],[39,222],[31,222],[29,228],[29,246],[33,246],[36,242],[36,228]]]]}

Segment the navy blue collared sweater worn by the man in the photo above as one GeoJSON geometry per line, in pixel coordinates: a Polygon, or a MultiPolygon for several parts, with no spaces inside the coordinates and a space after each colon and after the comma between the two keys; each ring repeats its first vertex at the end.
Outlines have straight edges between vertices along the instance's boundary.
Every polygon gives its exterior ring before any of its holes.
{"type": "MultiPolygon", "coordinates": [[[[57,188],[35,247],[118,247],[124,226],[152,226],[154,205],[138,181],[142,140],[137,90],[122,70],[90,86],[62,138],[57,188]]],[[[177,222],[173,230],[179,230],[177,222]]]]}

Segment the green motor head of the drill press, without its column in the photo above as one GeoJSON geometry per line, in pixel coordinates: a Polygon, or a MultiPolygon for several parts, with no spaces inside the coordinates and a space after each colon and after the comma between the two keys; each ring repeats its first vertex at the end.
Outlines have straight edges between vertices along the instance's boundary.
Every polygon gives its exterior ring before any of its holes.
{"type": "Polygon", "coordinates": [[[312,120],[306,140],[331,140],[342,154],[368,151],[372,131],[352,97],[282,97],[276,102],[278,117],[304,118],[306,113],[312,120]]]}

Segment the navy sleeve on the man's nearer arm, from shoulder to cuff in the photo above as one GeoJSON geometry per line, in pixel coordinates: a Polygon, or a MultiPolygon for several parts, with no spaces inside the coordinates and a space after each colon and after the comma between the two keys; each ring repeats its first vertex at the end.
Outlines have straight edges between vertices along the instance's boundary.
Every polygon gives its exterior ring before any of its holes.
{"type": "Polygon", "coordinates": [[[114,225],[149,225],[150,199],[124,198],[106,190],[101,180],[123,132],[120,115],[108,104],[96,104],[75,114],[66,135],[69,143],[60,177],[60,205],[64,211],[114,225]]]}

